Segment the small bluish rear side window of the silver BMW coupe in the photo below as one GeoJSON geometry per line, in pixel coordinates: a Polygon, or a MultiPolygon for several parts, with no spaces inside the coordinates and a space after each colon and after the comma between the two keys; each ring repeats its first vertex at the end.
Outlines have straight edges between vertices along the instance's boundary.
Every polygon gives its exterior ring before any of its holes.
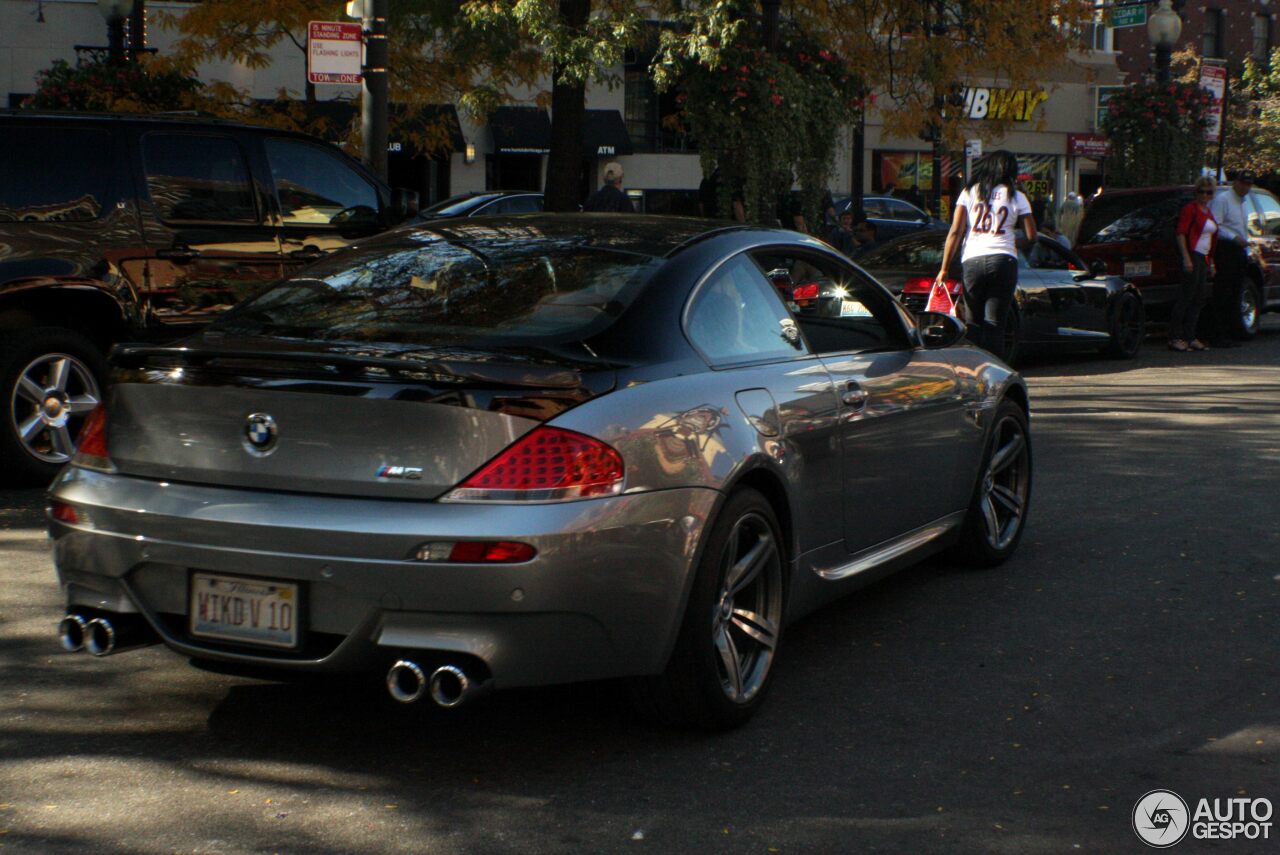
{"type": "Polygon", "coordinates": [[[689,340],[713,364],[785,360],[803,352],[794,324],[769,284],[745,256],[723,264],[703,283],[689,308],[689,340]]]}

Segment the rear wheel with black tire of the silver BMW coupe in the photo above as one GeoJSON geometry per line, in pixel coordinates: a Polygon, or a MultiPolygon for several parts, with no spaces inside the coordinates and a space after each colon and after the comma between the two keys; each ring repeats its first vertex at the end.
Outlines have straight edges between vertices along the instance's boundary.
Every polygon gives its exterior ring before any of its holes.
{"type": "Polygon", "coordinates": [[[637,707],[668,724],[726,730],[759,709],[782,635],[783,547],[773,508],[728,498],[699,561],[667,669],[637,681],[637,707]]]}

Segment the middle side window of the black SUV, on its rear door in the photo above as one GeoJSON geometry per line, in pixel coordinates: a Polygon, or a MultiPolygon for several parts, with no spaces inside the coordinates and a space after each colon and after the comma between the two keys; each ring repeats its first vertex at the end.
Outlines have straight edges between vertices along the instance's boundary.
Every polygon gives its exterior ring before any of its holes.
{"type": "Polygon", "coordinates": [[[230,137],[148,133],[142,163],[160,219],[257,221],[244,155],[230,137]]]}

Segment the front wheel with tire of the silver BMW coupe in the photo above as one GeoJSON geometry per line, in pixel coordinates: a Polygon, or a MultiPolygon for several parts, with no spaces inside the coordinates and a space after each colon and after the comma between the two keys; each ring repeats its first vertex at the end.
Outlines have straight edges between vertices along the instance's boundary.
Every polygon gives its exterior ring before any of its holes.
{"type": "Polygon", "coordinates": [[[974,567],[995,567],[1007,561],[1021,540],[1030,498],[1032,440],[1027,413],[1012,401],[1001,401],[952,557],[974,567]]]}

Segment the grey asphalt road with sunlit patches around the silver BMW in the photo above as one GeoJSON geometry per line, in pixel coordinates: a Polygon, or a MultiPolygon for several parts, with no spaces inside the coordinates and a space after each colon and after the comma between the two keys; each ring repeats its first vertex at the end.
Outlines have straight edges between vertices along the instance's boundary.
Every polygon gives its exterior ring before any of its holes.
{"type": "Polygon", "coordinates": [[[1153,788],[1280,803],[1280,321],[1025,372],[1015,558],[919,566],[790,627],[727,735],[646,726],[611,685],[448,714],[161,648],[64,654],[41,497],[0,493],[0,849],[1124,852],[1153,788]]]}

